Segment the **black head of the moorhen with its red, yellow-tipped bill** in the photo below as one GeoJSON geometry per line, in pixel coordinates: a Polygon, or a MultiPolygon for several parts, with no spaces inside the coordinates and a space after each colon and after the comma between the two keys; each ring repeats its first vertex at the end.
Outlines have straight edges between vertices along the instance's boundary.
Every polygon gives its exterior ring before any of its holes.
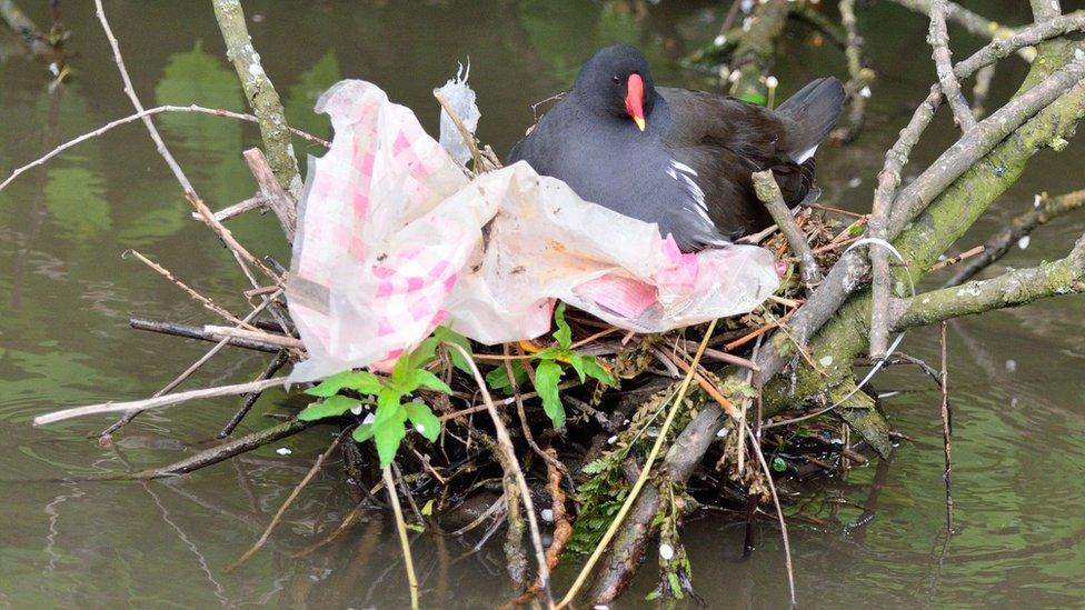
{"type": "Polygon", "coordinates": [[[636,122],[641,130],[656,100],[648,60],[628,44],[607,47],[591,56],[577,74],[573,94],[593,112],[636,122]]]}

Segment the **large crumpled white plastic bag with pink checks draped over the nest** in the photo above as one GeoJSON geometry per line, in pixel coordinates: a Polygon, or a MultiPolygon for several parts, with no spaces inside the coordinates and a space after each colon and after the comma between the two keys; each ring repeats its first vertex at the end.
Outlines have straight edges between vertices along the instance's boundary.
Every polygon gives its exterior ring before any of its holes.
{"type": "Polygon", "coordinates": [[[342,81],[317,111],[336,136],[310,157],[298,212],[286,291],[309,359],[293,381],[387,370],[441,323],[488,344],[534,339],[555,299],[661,332],[750,311],[779,283],[765,249],[684,254],[525,162],[470,180],[375,84],[342,81]]]}

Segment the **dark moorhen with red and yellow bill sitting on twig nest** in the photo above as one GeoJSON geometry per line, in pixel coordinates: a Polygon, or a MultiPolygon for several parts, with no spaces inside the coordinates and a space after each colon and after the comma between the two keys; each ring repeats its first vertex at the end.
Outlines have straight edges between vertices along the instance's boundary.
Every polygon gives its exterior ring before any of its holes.
{"type": "Polygon", "coordinates": [[[598,51],[568,94],[509,152],[583,199],[655,222],[684,252],[772,224],[750,173],[772,168],[788,206],[812,194],[814,151],[844,103],[837,79],[812,81],[776,110],[656,88],[634,47],[598,51]]]}

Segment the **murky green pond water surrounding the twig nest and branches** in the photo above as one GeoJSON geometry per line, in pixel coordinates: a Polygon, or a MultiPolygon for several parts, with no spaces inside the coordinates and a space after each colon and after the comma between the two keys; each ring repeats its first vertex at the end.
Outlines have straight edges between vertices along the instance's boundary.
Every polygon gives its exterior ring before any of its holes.
{"type": "MultiPolygon", "coordinates": [[[[44,3],[24,0],[39,23],[44,3]]],[[[293,124],[326,134],[309,109],[340,78],[380,83],[394,100],[436,126],[432,87],[470,57],[482,109],[480,136],[499,151],[530,122],[529,104],[563,88],[597,47],[644,47],[661,82],[700,86],[674,59],[710,37],[708,2],[666,1],[638,19],[624,3],[300,2],[247,0],[255,42],[293,124]]],[[[1006,23],[1027,19],[1026,2],[977,0],[1006,23]]],[[[1064,1],[1064,8],[1075,8],[1064,1]]],[[[0,37],[0,177],[57,143],[130,113],[109,49],[88,1],[64,2],[73,30],[74,74],[54,91],[40,62],[0,37]]],[[[145,102],[242,110],[243,100],[206,2],[110,1],[107,9],[145,102]]],[[[925,23],[878,3],[863,18],[874,67],[870,127],[853,147],[819,159],[826,201],[867,206],[880,153],[926,91],[933,69],[925,23]],[[854,179],[862,182],[855,184],[854,179]]],[[[779,67],[787,90],[823,73],[843,76],[836,50],[809,44],[796,26],[779,67]]],[[[960,37],[960,53],[976,41],[960,37]]],[[[1005,97],[1024,72],[1011,60],[996,79],[1005,97]]],[[[945,119],[943,117],[943,119],[945,119]]],[[[251,126],[197,116],[156,121],[212,207],[249,197],[240,159],[258,143],[251,126]]],[[[952,137],[938,123],[917,151],[929,160],[952,137]]],[[[302,149],[303,150],[303,149],[302,149]]],[[[319,152],[305,150],[305,152],[319,152]]],[[[962,246],[981,242],[1033,193],[1085,187],[1085,146],[1045,153],[962,246]]],[[[119,434],[94,437],[111,420],[33,429],[30,419],[63,407],[148,396],[201,356],[206,344],[128,329],[130,314],[205,323],[206,311],[172,286],[123,259],[138,249],[226,307],[240,309],[241,279],[189,211],[141,127],[133,124],[61,154],[0,192],[0,607],[271,603],[282,607],[399,607],[406,588],[399,551],[384,517],[303,557],[350,508],[341,472],[325,469],[268,547],[240,570],[226,566],[262,531],[330,431],[310,431],[192,477],[152,483],[66,481],[99,471],[175,461],[207,447],[235,399],[149,413],[119,434]],[[292,453],[280,456],[276,449],[292,453]]],[[[286,259],[271,217],[231,228],[259,251],[286,259]]],[[[1037,231],[1004,259],[1025,267],[1061,257],[1085,230],[1085,216],[1037,231]]],[[[915,439],[889,463],[830,480],[794,507],[792,547],[804,607],[890,604],[1079,607],[1085,603],[1085,300],[1065,298],[955,323],[949,333],[959,533],[942,553],[938,397],[914,371],[878,381],[906,392],[889,401],[893,422],[915,439]]],[[[935,358],[936,331],[914,331],[905,349],[935,358]]],[[[267,358],[227,351],[188,387],[243,380],[267,358]]],[[[242,426],[289,412],[268,396],[242,426]]],[[[759,548],[739,559],[741,526],[708,514],[686,541],[695,583],[713,607],[778,607],[786,599],[777,530],[763,522],[759,548]]],[[[418,534],[427,606],[494,606],[506,599],[499,548],[469,553],[475,540],[418,534]]],[[[625,600],[651,587],[645,574],[625,600]]],[[[565,574],[567,578],[568,574],[565,574]]],[[[559,578],[560,580],[560,578],[559,578]]]]}

